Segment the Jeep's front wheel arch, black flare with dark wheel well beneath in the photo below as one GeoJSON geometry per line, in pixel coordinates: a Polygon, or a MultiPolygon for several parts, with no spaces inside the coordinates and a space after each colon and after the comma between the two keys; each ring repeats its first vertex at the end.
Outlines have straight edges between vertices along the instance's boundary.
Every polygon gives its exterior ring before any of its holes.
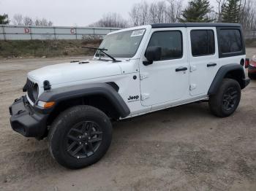
{"type": "Polygon", "coordinates": [[[53,122],[60,112],[78,105],[94,106],[114,119],[127,117],[130,113],[118,90],[107,83],[60,87],[42,93],[38,100],[56,103],[53,108],[44,111],[49,113],[48,124],[53,122]]]}

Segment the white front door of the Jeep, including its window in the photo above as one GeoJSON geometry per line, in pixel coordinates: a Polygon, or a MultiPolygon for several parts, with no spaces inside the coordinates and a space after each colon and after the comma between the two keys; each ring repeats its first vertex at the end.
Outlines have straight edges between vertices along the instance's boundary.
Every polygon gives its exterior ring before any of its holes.
{"type": "Polygon", "coordinates": [[[189,94],[187,29],[152,29],[147,47],[151,46],[162,47],[162,56],[148,66],[143,65],[144,56],[140,60],[142,105],[164,104],[186,97],[189,94]]]}

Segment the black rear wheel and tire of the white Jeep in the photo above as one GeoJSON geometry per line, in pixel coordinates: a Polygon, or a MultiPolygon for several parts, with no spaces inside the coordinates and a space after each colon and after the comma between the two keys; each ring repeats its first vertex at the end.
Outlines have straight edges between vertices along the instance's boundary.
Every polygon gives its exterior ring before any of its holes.
{"type": "Polygon", "coordinates": [[[234,79],[223,79],[215,95],[209,99],[211,113],[217,117],[228,117],[236,111],[241,99],[241,87],[234,79]]]}

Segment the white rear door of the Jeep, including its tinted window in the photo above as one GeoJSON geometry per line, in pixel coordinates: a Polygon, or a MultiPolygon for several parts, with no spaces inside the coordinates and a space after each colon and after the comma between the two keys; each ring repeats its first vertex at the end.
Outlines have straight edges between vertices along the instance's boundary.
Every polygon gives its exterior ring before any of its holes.
{"type": "Polygon", "coordinates": [[[206,95],[219,69],[215,27],[188,28],[190,95],[206,95]]]}

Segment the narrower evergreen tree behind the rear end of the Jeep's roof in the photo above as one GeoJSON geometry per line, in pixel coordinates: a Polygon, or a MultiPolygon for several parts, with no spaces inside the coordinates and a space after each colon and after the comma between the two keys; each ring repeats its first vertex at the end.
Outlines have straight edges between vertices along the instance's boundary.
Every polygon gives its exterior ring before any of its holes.
{"type": "Polygon", "coordinates": [[[238,23],[240,15],[240,0],[227,0],[222,10],[223,23],[238,23]]]}

